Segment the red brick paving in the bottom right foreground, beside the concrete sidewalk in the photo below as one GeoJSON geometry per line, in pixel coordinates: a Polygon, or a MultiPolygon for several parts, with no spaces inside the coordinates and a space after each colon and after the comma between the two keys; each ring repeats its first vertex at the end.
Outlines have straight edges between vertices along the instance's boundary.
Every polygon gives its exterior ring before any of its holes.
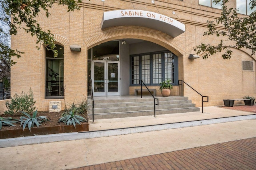
{"type": "MultiPolygon", "coordinates": [[[[125,154],[125,153],[124,153],[125,154]]],[[[72,170],[256,170],[256,137],[72,170]]]]}

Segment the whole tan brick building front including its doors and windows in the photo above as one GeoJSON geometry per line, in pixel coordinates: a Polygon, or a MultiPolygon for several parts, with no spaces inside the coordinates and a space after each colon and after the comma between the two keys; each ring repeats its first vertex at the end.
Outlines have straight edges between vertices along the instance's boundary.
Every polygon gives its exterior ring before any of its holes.
{"type": "MultiPolygon", "coordinates": [[[[256,96],[256,57],[250,55],[250,50],[233,49],[230,60],[223,60],[221,54],[206,60],[202,59],[203,54],[200,58],[188,59],[195,53],[193,48],[201,42],[216,45],[220,41],[218,37],[203,36],[203,33],[207,30],[206,21],[215,20],[221,10],[199,5],[198,0],[158,0],[154,3],[151,0],[83,0],[80,6],[79,11],[67,12],[66,7],[54,4],[49,10],[49,18],[44,15],[37,18],[43,29],[50,29],[54,34],[59,53],[63,53],[58,59],[51,57],[47,45],[40,45],[37,50],[36,38],[30,34],[21,30],[12,36],[12,49],[25,52],[20,59],[15,59],[17,63],[11,68],[12,96],[31,88],[38,110],[47,111],[51,101],[61,101],[63,107],[63,96],[68,103],[87,96],[90,78],[94,94],[124,96],[134,95],[138,79],[148,80],[151,88],[157,88],[164,76],[173,80],[172,95],[181,94],[178,80],[184,80],[202,95],[209,96],[205,106],[223,105],[223,99],[256,96]],[[102,28],[104,12],[117,10],[161,14],[184,24],[185,31],[172,37],[157,24],[152,25],[153,28],[145,27],[144,22],[148,21],[142,17],[136,25],[123,25],[119,18],[116,25],[102,28]],[[105,49],[108,45],[112,51],[105,49]],[[80,47],[81,51],[71,51],[73,46],[80,47]],[[170,66],[168,56],[172,56],[170,66]],[[243,70],[243,63],[252,64],[252,68],[243,70]],[[104,82],[96,78],[101,74],[97,72],[100,66],[104,66],[102,75],[110,76],[103,78],[104,82]],[[106,83],[108,92],[102,93],[102,84],[106,83]]],[[[236,0],[230,0],[229,6],[236,8],[236,0]]],[[[175,28],[170,29],[175,31],[175,28]]],[[[229,43],[232,42],[226,42],[229,43]]],[[[201,96],[188,86],[184,88],[184,96],[201,106],[201,96]]]]}

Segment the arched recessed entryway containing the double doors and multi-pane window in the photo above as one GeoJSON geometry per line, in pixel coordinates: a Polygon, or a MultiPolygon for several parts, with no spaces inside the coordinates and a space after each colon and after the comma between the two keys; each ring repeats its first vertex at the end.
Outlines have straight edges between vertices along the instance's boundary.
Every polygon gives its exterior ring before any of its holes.
{"type": "MultiPolygon", "coordinates": [[[[94,96],[134,95],[139,79],[147,86],[159,86],[167,78],[178,85],[178,56],[156,43],[116,39],[88,49],[94,96]]],[[[90,90],[88,84],[88,95],[90,90]]]]}

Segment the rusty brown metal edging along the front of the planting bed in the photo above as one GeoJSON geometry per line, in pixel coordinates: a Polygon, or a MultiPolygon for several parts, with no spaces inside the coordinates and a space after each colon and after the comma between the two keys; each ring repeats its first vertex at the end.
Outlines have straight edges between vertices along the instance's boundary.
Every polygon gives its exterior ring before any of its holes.
{"type": "Polygon", "coordinates": [[[89,131],[88,123],[78,124],[76,125],[76,129],[74,128],[74,125],[61,125],[52,127],[32,127],[31,132],[28,127],[26,127],[24,131],[23,129],[0,131],[0,139],[81,131],[89,131]]]}

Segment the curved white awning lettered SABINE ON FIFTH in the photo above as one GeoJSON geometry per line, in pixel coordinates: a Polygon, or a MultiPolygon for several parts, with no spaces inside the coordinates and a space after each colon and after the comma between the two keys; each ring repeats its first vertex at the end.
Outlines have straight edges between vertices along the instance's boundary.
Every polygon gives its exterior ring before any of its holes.
{"type": "Polygon", "coordinates": [[[104,12],[101,29],[119,25],[136,25],[162,31],[172,37],[185,32],[185,25],[168,16],[142,10],[116,10],[104,12]]]}

